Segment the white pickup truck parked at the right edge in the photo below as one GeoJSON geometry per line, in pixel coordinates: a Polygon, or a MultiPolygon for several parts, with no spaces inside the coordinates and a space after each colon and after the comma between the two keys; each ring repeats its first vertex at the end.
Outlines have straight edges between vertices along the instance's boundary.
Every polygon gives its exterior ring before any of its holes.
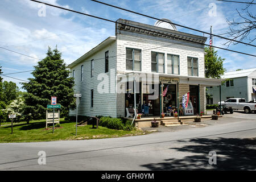
{"type": "MultiPolygon", "coordinates": [[[[218,102],[220,104],[220,102],[218,102]]],[[[245,113],[256,113],[256,103],[246,102],[244,98],[229,98],[226,101],[221,101],[221,104],[225,104],[227,107],[232,107],[233,110],[244,110],[245,113]]]]}

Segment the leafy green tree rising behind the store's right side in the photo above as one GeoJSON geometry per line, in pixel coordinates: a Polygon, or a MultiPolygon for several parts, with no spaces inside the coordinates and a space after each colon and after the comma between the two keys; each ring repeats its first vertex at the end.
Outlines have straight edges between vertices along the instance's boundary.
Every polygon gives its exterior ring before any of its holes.
{"type": "Polygon", "coordinates": [[[223,61],[225,59],[217,55],[214,48],[205,47],[205,77],[207,78],[221,78],[226,69],[223,68],[223,61]]]}

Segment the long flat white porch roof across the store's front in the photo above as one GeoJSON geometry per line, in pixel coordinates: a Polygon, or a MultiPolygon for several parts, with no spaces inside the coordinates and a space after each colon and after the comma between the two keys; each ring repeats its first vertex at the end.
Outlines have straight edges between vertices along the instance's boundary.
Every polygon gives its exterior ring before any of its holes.
{"type": "MultiPolygon", "coordinates": [[[[205,78],[205,77],[197,77],[197,76],[183,76],[183,75],[170,75],[164,73],[146,73],[146,72],[129,72],[129,73],[118,73],[117,77],[122,75],[129,75],[139,74],[140,78],[146,78],[147,74],[151,74],[152,76],[159,76],[159,77],[170,77],[170,78],[179,78],[179,84],[189,84],[189,85],[202,85],[202,86],[219,86],[224,79],[217,79],[217,78],[205,78]]],[[[131,78],[131,77],[129,77],[131,78]]],[[[132,77],[133,78],[133,77],[132,77]]],[[[131,80],[130,80],[131,81],[131,80]]],[[[152,81],[154,78],[152,77],[152,81]]]]}

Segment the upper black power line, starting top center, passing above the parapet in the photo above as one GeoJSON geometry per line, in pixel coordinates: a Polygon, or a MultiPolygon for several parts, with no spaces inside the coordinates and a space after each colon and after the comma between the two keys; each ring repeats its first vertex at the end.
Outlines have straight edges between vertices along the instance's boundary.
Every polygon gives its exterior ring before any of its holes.
{"type": "MultiPolygon", "coordinates": [[[[30,1],[35,1],[35,0],[30,0],[30,1]]],[[[122,8],[122,7],[110,5],[110,4],[105,3],[105,2],[96,1],[96,0],[91,0],[91,1],[94,1],[94,2],[97,2],[97,3],[101,3],[101,4],[106,5],[106,6],[111,6],[111,7],[120,9],[120,10],[128,11],[128,12],[130,12],[130,13],[134,13],[134,14],[146,16],[147,18],[156,19],[156,20],[160,20],[160,21],[162,21],[162,22],[170,23],[170,22],[167,22],[166,20],[162,20],[162,19],[159,19],[159,18],[155,18],[155,17],[153,17],[153,16],[148,16],[148,15],[145,15],[145,14],[142,14],[142,13],[138,13],[138,12],[136,12],[136,11],[127,10],[127,9],[122,8]]],[[[35,2],[36,2],[36,1],[35,1],[35,2]]],[[[42,3],[42,2],[40,2],[40,3],[42,3]]],[[[47,3],[45,3],[45,4],[47,5],[47,3]]],[[[226,40],[231,40],[231,41],[233,41],[233,42],[237,42],[237,43],[241,43],[241,44],[246,44],[247,46],[256,47],[256,46],[253,45],[253,44],[244,43],[244,42],[240,42],[240,41],[238,41],[238,40],[233,40],[233,39],[225,38],[225,37],[220,36],[220,35],[210,34],[210,33],[208,33],[208,32],[204,32],[204,31],[201,31],[201,30],[197,30],[197,29],[195,29],[195,28],[183,26],[183,25],[181,25],[181,24],[177,24],[177,23],[172,23],[172,24],[175,24],[176,26],[183,27],[183,28],[187,28],[187,29],[190,29],[190,30],[193,30],[193,31],[201,32],[201,33],[204,33],[204,34],[208,34],[208,35],[212,35],[212,36],[217,36],[218,38],[222,38],[222,39],[226,39],[226,40]]]]}

